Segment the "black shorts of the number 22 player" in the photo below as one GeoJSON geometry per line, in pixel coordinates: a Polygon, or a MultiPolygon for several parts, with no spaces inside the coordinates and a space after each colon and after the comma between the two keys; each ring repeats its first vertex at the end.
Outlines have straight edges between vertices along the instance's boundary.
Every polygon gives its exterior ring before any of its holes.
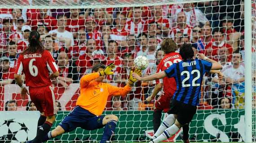
{"type": "Polygon", "coordinates": [[[171,109],[168,111],[168,114],[177,114],[177,120],[183,126],[191,122],[196,109],[196,106],[172,100],[171,109]]]}

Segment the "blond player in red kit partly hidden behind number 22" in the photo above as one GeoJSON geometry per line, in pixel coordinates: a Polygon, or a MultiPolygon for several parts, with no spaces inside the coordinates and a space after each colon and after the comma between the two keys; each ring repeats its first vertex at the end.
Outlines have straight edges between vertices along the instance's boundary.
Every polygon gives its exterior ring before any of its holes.
{"type": "MultiPolygon", "coordinates": [[[[157,67],[157,72],[164,71],[168,67],[170,67],[173,63],[178,63],[182,61],[181,55],[175,52],[177,50],[177,45],[171,38],[164,39],[161,44],[161,48],[165,53],[165,56],[159,63],[157,67]]],[[[170,118],[170,119],[165,119],[166,122],[163,122],[160,126],[162,111],[164,111],[165,113],[169,111],[170,101],[177,88],[174,78],[165,77],[163,79],[156,80],[154,91],[149,97],[146,98],[146,101],[151,101],[152,98],[154,98],[159,93],[162,87],[163,87],[163,92],[161,93],[157,101],[155,101],[154,103],[154,106],[155,106],[154,113],[153,113],[154,136],[151,139],[155,139],[155,136],[158,136],[159,134],[159,132],[157,132],[158,129],[166,128],[166,126],[168,126],[169,124],[168,121],[170,122],[172,122],[172,120],[175,121],[174,117],[168,116],[167,118],[170,118]]],[[[189,131],[188,126],[183,126],[184,142],[188,141],[188,131],[189,131]]]]}

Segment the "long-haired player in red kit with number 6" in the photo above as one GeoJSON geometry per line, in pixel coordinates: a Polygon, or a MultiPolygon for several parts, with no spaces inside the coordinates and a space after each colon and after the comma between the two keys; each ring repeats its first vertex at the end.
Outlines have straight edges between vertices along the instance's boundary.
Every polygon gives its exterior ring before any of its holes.
{"type": "Polygon", "coordinates": [[[41,112],[36,137],[29,141],[29,143],[41,143],[55,121],[57,108],[51,80],[56,78],[59,72],[53,56],[48,50],[44,50],[37,31],[30,32],[28,41],[28,48],[18,58],[14,78],[21,87],[22,99],[28,94],[26,89],[28,86],[31,101],[41,112]],[[26,86],[21,80],[22,73],[26,76],[26,86]]]}

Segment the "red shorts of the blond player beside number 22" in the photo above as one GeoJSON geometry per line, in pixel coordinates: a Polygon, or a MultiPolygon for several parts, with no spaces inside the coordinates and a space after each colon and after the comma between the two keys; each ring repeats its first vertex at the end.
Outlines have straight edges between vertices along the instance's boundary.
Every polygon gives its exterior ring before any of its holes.
{"type": "Polygon", "coordinates": [[[157,101],[154,102],[154,107],[156,109],[163,110],[164,113],[170,110],[170,100],[172,97],[161,94],[157,101]]]}

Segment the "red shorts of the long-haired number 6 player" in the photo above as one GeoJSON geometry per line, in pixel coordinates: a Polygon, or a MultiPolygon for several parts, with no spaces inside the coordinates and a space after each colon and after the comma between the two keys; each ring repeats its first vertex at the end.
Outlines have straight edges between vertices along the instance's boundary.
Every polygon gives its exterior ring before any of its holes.
{"type": "Polygon", "coordinates": [[[29,95],[37,110],[41,113],[44,112],[45,116],[53,116],[57,114],[52,86],[43,86],[39,88],[30,87],[29,95]]]}

